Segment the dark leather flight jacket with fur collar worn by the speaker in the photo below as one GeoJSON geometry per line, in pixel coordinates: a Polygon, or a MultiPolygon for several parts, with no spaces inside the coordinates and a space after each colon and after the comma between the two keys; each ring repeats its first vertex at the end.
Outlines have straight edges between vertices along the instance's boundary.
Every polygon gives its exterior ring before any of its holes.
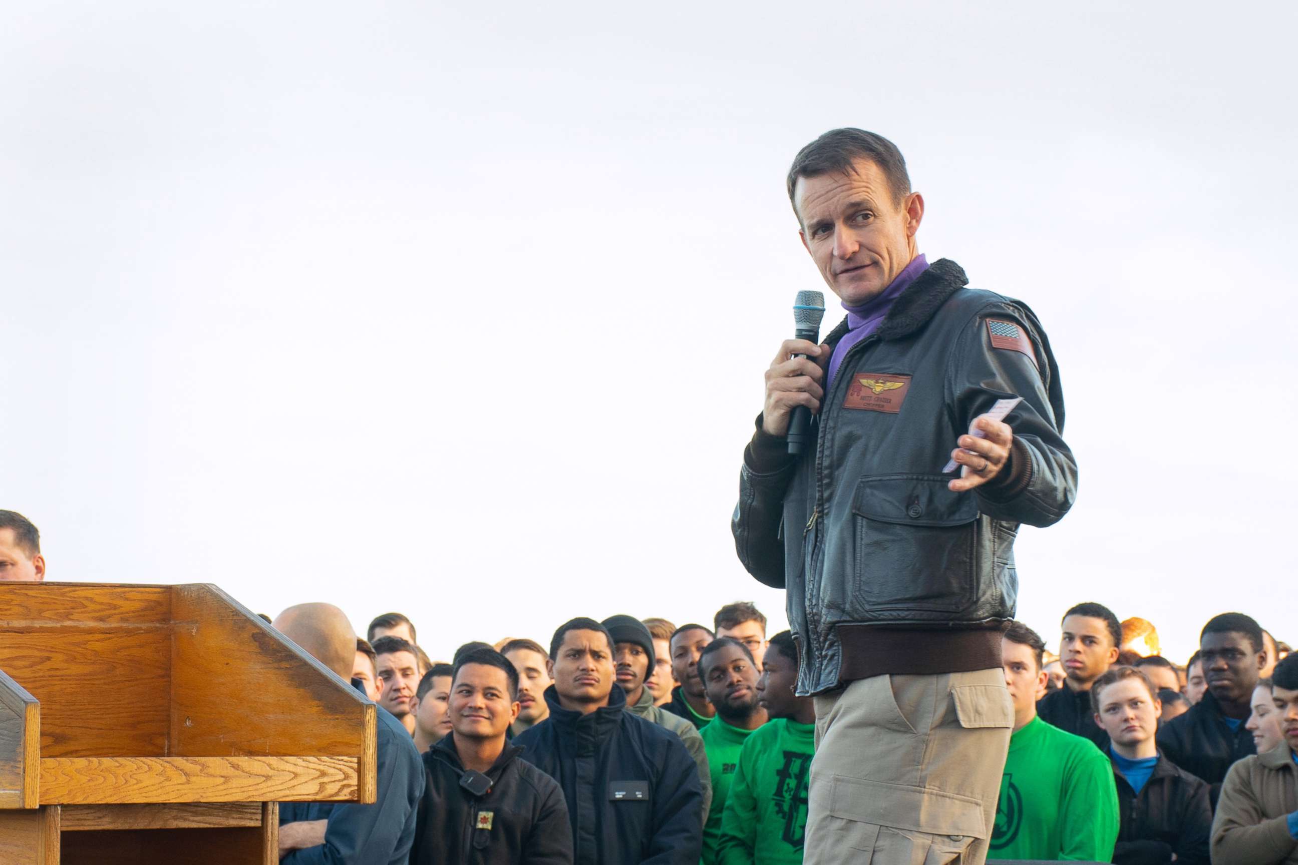
{"type": "MultiPolygon", "coordinates": [[[[844,355],[814,425],[814,453],[757,433],[744,453],[735,547],[758,581],[788,590],[798,694],[881,673],[998,667],[1014,617],[1019,524],[1045,527],[1076,497],[1062,438],[1059,368],[1025,305],[964,288],[933,262],[877,329],[844,355]],[[942,467],[975,418],[1006,416],[1009,463],[953,493],[942,467]]],[[[827,338],[846,333],[844,320],[827,338]]]]}

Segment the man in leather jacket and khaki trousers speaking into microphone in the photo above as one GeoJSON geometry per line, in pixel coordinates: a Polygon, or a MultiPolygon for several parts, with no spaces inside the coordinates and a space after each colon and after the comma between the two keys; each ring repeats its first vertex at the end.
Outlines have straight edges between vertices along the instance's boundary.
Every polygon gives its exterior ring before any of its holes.
{"type": "Polygon", "coordinates": [[[924,200],[892,141],[826,132],[788,193],[848,316],[766,371],[732,529],[749,573],[788,590],[815,698],[803,861],[983,862],[1014,726],[1014,537],[1077,486],[1059,370],[1024,303],[919,254],[924,200]],[[815,420],[790,455],[797,407],[815,420]]]}

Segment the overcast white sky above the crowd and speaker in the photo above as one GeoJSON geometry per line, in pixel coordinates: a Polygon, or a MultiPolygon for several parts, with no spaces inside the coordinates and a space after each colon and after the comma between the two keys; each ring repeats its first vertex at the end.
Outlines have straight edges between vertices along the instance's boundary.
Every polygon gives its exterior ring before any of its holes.
{"type": "Polygon", "coordinates": [[[861,126],[1062,367],[1080,495],[1020,617],[1293,641],[1295,9],[8,4],[0,507],[49,578],[401,610],[436,658],[783,628],[728,520],[823,288],[784,172],[861,126]]]}

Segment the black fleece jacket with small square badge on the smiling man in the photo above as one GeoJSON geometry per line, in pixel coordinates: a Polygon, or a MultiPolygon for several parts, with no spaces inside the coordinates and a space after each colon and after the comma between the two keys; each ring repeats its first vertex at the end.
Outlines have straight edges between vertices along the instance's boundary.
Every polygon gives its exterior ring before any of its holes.
{"type": "Polygon", "coordinates": [[[482,796],[459,786],[454,734],[423,755],[427,787],[415,821],[411,865],[572,865],[572,830],[554,778],[506,744],[482,796]]]}

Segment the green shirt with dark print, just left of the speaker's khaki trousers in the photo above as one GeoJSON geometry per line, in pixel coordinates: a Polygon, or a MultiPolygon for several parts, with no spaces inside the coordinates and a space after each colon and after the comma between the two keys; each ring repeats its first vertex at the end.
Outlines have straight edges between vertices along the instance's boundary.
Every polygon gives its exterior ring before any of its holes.
{"type": "Polygon", "coordinates": [[[776,718],[748,737],[726,796],[718,865],[801,865],[815,725],[776,718]]]}

